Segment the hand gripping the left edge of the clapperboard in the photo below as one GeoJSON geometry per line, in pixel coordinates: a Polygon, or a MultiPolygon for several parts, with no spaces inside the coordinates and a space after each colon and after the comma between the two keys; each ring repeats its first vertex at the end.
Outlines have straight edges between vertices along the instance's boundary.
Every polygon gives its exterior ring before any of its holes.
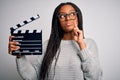
{"type": "Polygon", "coordinates": [[[14,38],[14,36],[10,36],[9,37],[9,43],[8,43],[8,53],[12,55],[12,52],[15,50],[19,49],[18,42],[12,41],[12,38],[14,38]]]}

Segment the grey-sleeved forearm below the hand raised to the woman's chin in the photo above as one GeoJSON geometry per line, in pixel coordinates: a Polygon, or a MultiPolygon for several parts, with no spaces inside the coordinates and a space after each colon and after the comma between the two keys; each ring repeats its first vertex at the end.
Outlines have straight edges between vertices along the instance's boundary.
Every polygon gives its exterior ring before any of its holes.
{"type": "Polygon", "coordinates": [[[84,49],[81,51],[82,70],[86,80],[101,80],[102,70],[99,60],[90,55],[90,51],[84,49]]]}

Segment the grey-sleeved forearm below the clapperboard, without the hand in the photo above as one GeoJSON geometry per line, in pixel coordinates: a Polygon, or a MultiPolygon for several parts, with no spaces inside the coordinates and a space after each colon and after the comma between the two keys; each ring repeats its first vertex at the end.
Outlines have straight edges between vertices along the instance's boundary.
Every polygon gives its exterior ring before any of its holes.
{"type": "Polygon", "coordinates": [[[32,64],[26,59],[25,56],[16,58],[17,70],[20,76],[25,80],[37,80],[37,73],[32,64]]]}

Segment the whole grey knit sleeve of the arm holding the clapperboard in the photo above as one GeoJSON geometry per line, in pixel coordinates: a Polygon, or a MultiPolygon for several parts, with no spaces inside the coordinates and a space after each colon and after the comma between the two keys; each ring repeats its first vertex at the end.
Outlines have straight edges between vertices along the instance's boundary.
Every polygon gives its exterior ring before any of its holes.
{"type": "Polygon", "coordinates": [[[43,44],[42,55],[34,55],[37,58],[35,59],[34,63],[31,63],[26,56],[23,56],[19,59],[16,58],[17,70],[23,80],[39,79],[39,71],[42,64],[44,52],[46,50],[46,46],[47,46],[47,42],[43,44]]]}

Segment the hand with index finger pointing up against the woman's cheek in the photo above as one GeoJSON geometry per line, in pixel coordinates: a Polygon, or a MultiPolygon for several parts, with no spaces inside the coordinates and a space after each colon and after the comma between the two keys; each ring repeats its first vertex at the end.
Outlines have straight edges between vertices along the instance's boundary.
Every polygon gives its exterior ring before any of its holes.
{"type": "Polygon", "coordinates": [[[83,38],[83,31],[78,28],[77,24],[75,24],[72,35],[73,39],[78,43],[81,50],[86,48],[86,44],[83,38]]]}

